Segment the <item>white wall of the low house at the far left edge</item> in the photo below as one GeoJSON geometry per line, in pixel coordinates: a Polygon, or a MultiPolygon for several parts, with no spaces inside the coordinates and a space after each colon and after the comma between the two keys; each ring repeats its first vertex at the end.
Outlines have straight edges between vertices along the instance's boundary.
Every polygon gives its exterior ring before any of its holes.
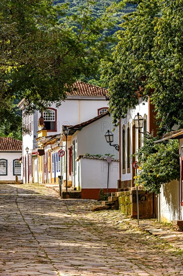
{"type": "MultiPolygon", "coordinates": [[[[0,159],[7,160],[7,175],[0,175],[0,181],[15,181],[15,175],[13,175],[13,160],[18,159],[21,153],[0,153],[0,159]]],[[[21,180],[21,176],[18,176],[18,180],[21,180]]]]}

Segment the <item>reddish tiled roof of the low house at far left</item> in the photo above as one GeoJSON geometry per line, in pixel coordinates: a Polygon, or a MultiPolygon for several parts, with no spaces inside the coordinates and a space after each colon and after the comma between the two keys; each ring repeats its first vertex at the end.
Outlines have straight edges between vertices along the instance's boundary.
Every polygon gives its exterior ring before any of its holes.
{"type": "Polygon", "coordinates": [[[22,142],[11,137],[0,137],[0,152],[21,152],[22,142]]]}

